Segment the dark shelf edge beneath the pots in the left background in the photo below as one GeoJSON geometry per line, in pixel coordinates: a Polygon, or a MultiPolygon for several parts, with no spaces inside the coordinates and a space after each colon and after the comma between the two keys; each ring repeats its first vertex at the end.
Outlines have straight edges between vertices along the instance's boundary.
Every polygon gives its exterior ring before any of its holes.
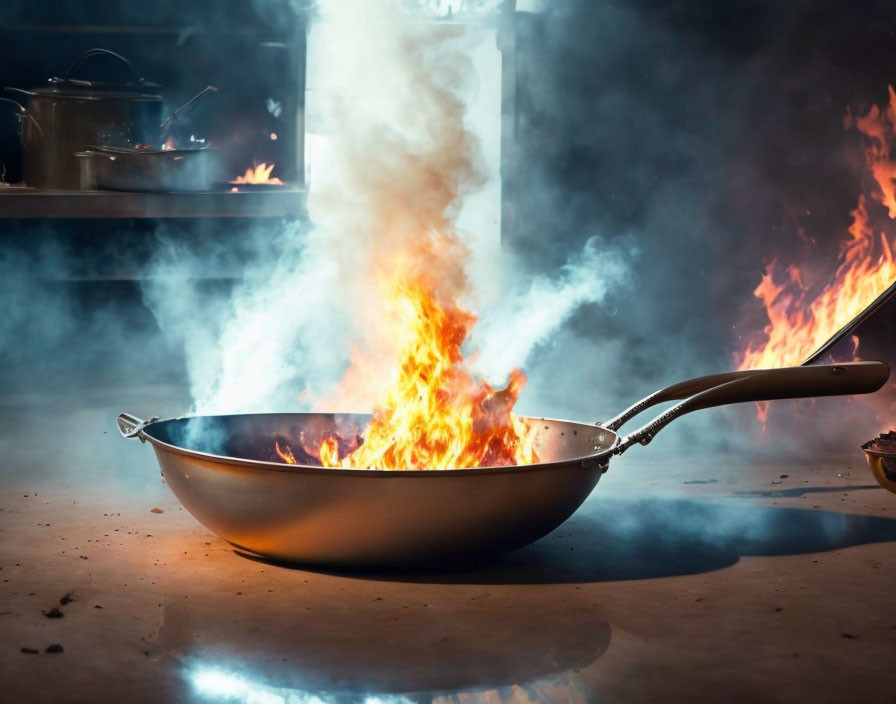
{"type": "Polygon", "coordinates": [[[125,193],[0,188],[2,218],[300,218],[305,191],[125,193]]]}

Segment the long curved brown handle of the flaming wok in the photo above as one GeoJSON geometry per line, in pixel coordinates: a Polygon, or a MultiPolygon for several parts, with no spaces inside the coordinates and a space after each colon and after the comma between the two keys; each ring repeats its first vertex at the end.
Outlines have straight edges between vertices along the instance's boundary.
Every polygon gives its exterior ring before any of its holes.
{"type": "Polygon", "coordinates": [[[646,445],[669,423],[691,411],[750,401],[867,394],[877,391],[889,377],[890,368],[883,362],[754,370],[753,373],[734,380],[723,380],[718,386],[700,391],[661,413],[644,427],[622,438],[614,454],[625,452],[635,443],[646,445]]]}

